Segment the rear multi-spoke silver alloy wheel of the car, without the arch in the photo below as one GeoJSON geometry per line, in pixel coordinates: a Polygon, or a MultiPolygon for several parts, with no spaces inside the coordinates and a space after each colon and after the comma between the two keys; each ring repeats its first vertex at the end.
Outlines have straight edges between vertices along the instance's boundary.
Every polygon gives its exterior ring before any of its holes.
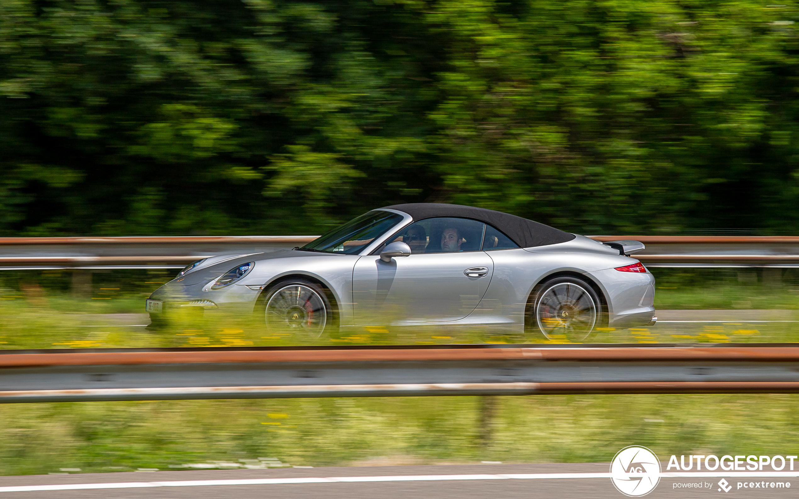
{"type": "Polygon", "coordinates": [[[597,304],[577,283],[557,283],[539,295],[535,319],[547,339],[586,339],[597,323],[597,304]]]}

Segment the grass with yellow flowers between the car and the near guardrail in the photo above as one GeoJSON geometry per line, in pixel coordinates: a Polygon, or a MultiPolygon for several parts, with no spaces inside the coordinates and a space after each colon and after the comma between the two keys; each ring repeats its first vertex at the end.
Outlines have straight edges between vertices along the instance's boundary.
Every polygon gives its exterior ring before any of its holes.
{"type": "MultiPolygon", "coordinates": [[[[78,309],[81,310],[81,309],[78,309]]],[[[335,336],[312,338],[292,331],[268,331],[252,315],[215,319],[176,315],[164,329],[149,331],[105,320],[100,314],[72,313],[30,300],[0,302],[0,350],[55,348],[287,347],[309,345],[435,345],[448,343],[569,343],[542,335],[497,335],[479,327],[431,330],[366,326],[335,336]]],[[[110,317],[110,316],[109,316],[110,317]]],[[[149,319],[145,318],[149,322],[149,319]]],[[[141,320],[133,322],[144,322],[141,320]]],[[[144,322],[144,323],[147,323],[144,322]]],[[[600,329],[582,343],[794,343],[799,323],[660,323],[615,331],[600,329]]]]}

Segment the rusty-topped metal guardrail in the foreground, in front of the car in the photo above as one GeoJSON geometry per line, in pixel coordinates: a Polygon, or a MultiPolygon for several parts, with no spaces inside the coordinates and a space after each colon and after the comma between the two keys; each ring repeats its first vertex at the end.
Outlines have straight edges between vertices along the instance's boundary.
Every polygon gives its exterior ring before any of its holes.
{"type": "Polygon", "coordinates": [[[799,343],[5,350],[0,403],[799,392],[799,343]]]}

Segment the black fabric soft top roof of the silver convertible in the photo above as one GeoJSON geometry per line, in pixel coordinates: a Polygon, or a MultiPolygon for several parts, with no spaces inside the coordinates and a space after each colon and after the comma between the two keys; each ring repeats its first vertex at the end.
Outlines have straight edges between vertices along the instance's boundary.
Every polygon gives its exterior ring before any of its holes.
{"type": "Polygon", "coordinates": [[[573,240],[575,237],[574,234],[563,232],[549,225],[527,220],[521,216],[508,215],[503,212],[495,212],[494,210],[475,208],[473,206],[463,206],[461,204],[410,203],[392,204],[392,206],[384,206],[383,208],[407,213],[413,217],[414,221],[432,218],[434,216],[458,216],[461,218],[479,220],[498,228],[501,232],[504,232],[506,236],[510,237],[515,244],[519,244],[522,248],[565,243],[566,241],[573,240]]]}

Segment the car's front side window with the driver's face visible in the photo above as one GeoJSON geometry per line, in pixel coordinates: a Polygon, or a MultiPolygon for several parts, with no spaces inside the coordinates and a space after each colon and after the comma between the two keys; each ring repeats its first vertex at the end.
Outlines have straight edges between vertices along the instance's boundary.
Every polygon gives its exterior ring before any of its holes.
{"type": "Polygon", "coordinates": [[[485,225],[467,218],[428,218],[408,225],[392,242],[402,241],[407,244],[413,255],[480,251],[485,225]]]}

